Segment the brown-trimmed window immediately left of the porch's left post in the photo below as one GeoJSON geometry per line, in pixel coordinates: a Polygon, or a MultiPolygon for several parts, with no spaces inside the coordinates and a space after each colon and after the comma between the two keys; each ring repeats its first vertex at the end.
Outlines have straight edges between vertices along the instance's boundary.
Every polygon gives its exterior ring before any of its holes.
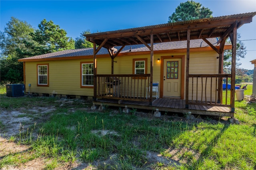
{"type": "Polygon", "coordinates": [[[93,87],[93,63],[81,63],[81,87],[93,87]]]}

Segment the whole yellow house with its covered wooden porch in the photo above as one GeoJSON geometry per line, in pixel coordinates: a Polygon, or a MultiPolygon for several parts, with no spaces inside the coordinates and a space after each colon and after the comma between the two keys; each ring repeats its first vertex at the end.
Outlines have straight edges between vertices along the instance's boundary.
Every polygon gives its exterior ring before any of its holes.
{"type": "Polygon", "coordinates": [[[94,104],[109,106],[234,117],[233,44],[236,30],[255,15],[85,35],[94,48],[19,59],[24,62],[26,92],[91,96],[94,104]],[[226,43],[228,37],[231,44],[226,43]],[[232,49],[231,74],[223,74],[225,49],[232,49]],[[231,82],[230,101],[222,96],[224,78],[231,82]]]}

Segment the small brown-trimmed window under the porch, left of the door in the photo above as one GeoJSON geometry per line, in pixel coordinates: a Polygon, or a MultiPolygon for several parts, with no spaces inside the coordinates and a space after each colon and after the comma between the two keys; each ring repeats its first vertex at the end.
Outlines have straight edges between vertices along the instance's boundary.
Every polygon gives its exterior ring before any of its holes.
{"type": "Polygon", "coordinates": [[[148,59],[133,59],[132,74],[147,74],[148,59]]]}

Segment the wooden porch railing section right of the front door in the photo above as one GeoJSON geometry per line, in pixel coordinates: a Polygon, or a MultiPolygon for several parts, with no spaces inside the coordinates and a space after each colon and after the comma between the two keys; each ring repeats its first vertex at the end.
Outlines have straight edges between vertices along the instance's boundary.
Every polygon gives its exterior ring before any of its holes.
{"type": "Polygon", "coordinates": [[[188,100],[190,102],[188,104],[230,107],[232,99],[228,101],[228,89],[226,88],[225,96],[222,96],[222,83],[221,85],[218,83],[224,78],[228,87],[231,74],[189,74],[188,100]]]}

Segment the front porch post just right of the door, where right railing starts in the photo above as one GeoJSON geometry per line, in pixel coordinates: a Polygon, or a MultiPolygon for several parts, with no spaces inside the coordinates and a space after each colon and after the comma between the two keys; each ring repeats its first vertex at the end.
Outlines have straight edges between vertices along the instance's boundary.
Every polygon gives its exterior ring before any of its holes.
{"type": "Polygon", "coordinates": [[[188,109],[189,54],[190,54],[190,29],[187,30],[186,109],[188,109]]]}

